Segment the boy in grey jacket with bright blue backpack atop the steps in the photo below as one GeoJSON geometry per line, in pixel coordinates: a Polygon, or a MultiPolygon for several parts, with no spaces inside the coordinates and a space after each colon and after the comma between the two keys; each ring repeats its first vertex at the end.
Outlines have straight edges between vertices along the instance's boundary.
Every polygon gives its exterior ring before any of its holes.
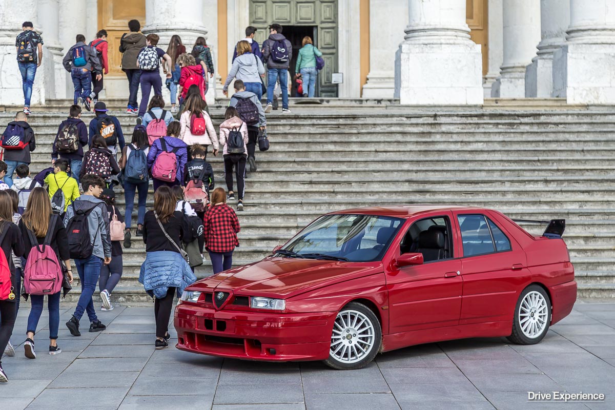
{"type": "Polygon", "coordinates": [[[71,73],[74,86],[73,104],[84,104],[85,109],[90,111],[90,93],[92,92],[92,72],[96,76],[96,80],[102,78],[103,67],[94,50],[89,45],[85,44],[85,36],[77,34],[77,44],[73,45],[64,56],[62,65],[71,73]]]}

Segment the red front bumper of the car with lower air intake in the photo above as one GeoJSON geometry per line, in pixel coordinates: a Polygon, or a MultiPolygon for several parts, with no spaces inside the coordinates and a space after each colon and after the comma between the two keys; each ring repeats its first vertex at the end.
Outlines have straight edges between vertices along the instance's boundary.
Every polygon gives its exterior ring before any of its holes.
{"type": "Polygon", "coordinates": [[[244,360],[325,360],[336,312],[275,313],[175,308],[177,349],[244,360]]]}

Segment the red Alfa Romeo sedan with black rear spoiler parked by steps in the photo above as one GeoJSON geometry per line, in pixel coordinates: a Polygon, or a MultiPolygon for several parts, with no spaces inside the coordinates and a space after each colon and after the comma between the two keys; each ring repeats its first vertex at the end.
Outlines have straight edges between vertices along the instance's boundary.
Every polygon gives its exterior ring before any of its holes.
{"type": "Polygon", "coordinates": [[[467,207],[320,216],[262,261],[188,286],[175,309],[177,348],[357,369],[428,342],[538,343],[577,290],[565,221],[547,224],[531,235],[498,211],[467,207]]]}

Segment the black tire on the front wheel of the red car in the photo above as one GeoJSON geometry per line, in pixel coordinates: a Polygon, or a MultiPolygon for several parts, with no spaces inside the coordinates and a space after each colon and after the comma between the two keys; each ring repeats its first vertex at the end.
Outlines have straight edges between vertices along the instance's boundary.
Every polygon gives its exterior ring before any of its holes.
{"type": "MultiPolygon", "coordinates": [[[[360,304],[359,302],[350,302],[349,304],[344,306],[339,311],[336,317],[336,323],[338,323],[338,318],[340,318],[340,315],[342,315],[344,312],[350,315],[356,315],[356,313],[358,312],[360,313],[360,315],[363,316],[363,318],[365,318],[369,322],[369,325],[371,325],[371,328],[373,329],[373,331],[371,332],[373,338],[370,339],[373,342],[371,344],[371,347],[369,347],[367,351],[360,353],[362,355],[360,360],[356,360],[352,363],[347,363],[346,361],[339,360],[339,358],[333,355],[332,352],[329,352],[329,358],[325,360],[324,362],[325,362],[325,365],[333,369],[337,369],[337,370],[362,369],[365,366],[367,366],[372,360],[374,360],[374,358],[376,357],[376,354],[378,354],[380,350],[380,347],[382,345],[382,328],[380,326],[380,322],[378,321],[378,317],[376,317],[374,312],[372,312],[371,309],[369,309],[367,306],[363,304],[360,304]]],[[[362,329],[362,326],[357,326],[357,328],[362,329]]],[[[343,341],[338,341],[339,335],[335,333],[336,331],[335,329],[336,329],[336,325],[333,325],[333,329],[331,330],[331,344],[334,344],[335,342],[343,343],[343,344],[352,343],[353,340],[355,341],[355,343],[357,343],[357,341],[359,341],[359,338],[357,337],[357,334],[355,333],[354,333],[355,339],[352,339],[353,337],[352,332],[346,333],[350,336],[349,339],[347,339],[346,337],[342,337],[341,339],[343,341]]],[[[347,330],[347,329],[344,329],[344,330],[347,330]]],[[[367,336],[363,336],[363,337],[367,337],[367,336]]],[[[355,344],[354,345],[355,352],[358,352],[358,350],[356,350],[356,347],[360,345],[365,346],[367,345],[367,342],[360,341],[358,344],[355,344]]],[[[351,346],[347,346],[347,349],[350,352],[351,346]]],[[[360,347],[360,349],[363,350],[362,347],[360,347]]],[[[350,355],[351,353],[349,353],[349,356],[350,355]]],[[[359,359],[358,356],[357,356],[357,359],[359,359]]]]}

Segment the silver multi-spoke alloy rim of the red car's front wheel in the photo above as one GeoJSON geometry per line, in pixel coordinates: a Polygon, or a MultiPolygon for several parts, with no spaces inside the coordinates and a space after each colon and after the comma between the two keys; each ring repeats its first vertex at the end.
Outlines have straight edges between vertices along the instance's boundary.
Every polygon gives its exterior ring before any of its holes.
{"type": "Polygon", "coordinates": [[[374,346],[375,330],[370,318],[357,310],[338,313],[331,334],[331,356],[342,363],[357,363],[374,346]]]}

